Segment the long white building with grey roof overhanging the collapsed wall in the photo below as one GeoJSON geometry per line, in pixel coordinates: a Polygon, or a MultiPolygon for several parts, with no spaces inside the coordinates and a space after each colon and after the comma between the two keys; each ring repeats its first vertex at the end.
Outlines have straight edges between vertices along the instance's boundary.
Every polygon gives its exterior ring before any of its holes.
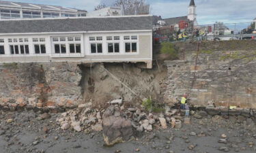
{"type": "Polygon", "coordinates": [[[132,62],[152,67],[152,16],[0,20],[0,63],[132,62]]]}

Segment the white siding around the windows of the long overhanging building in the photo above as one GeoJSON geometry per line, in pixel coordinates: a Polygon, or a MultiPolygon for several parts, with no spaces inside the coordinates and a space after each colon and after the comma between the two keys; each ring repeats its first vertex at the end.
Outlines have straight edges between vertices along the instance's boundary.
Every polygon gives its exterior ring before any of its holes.
{"type": "MultiPolygon", "coordinates": [[[[0,35],[0,46],[4,46],[5,54],[0,54],[0,63],[16,63],[16,62],[48,62],[48,61],[77,61],[77,62],[144,62],[152,64],[152,31],[130,31],[130,32],[102,32],[102,33],[48,33],[48,34],[22,34],[22,35],[0,35]],[[114,40],[114,36],[119,36],[119,40],[114,40]],[[125,40],[124,37],[129,36],[130,39],[125,40]],[[137,39],[131,39],[131,37],[137,39]],[[53,41],[53,37],[65,37],[66,41],[53,41]],[[80,37],[81,41],[68,41],[68,37],[80,37]],[[90,41],[89,37],[102,37],[100,41],[90,41]],[[113,37],[113,40],[107,40],[106,37],[113,37]],[[37,42],[33,39],[38,38],[37,42]],[[40,38],[45,41],[40,42],[40,38]],[[12,39],[12,42],[8,42],[12,39]],[[23,39],[23,42],[19,42],[23,39]],[[28,42],[24,42],[28,39],[28,42]],[[13,42],[13,41],[17,42],[13,42]],[[102,44],[102,53],[91,53],[91,44],[102,44]],[[119,44],[119,52],[108,52],[108,43],[119,44]],[[130,43],[136,48],[136,52],[126,52],[125,46],[130,43]],[[35,44],[44,44],[46,53],[35,54],[35,44]],[[56,54],[54,44],[66,44],[65,54],[56,54]],[[70,53],[70,44],[81,44],[80,53],[70,53]],[[136,47],[135,47],[136,44],[136,47]],[[29,54],[11,54],[10,46],[28,45],[29,54]]],[[[111,45],[111,44],[110,44],[111,45]]]]}

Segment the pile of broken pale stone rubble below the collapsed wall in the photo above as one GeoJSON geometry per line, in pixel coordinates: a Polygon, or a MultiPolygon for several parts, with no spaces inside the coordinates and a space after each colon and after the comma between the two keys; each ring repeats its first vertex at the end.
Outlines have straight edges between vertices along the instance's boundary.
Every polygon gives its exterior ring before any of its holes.
{"type": "MultiPolygon", "coordinates": [[[[181,115],[179,110],[165,107],[165,112],[154,114],[145,112],[143,109],[125,108],[122,105],[122,99],[111,101],[108,109],[92,109],[91,103],[79,105],[76,109],[62,113],[57,118],[57,123],[61,129],[74,131],[102,131],[104,128],[104,118],[113,117],[116,120],[130,120],[135,131],[147,132],[156,129],[167,129],[167,126],[172,128],[181,128],[181,115]]],[[[112,119],[113,119],[112,118],[112,119]]]]}

